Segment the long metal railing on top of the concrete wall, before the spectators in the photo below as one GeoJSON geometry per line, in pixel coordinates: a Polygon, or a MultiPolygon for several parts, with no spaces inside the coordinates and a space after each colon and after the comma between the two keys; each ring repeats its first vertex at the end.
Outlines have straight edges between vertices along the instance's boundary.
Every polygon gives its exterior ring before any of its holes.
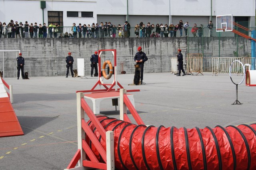
{"type": "MultiPolygon", "coordinates": [[[[187,35],[188,37],[209,37],[209,29],[208,27],[202,27],[202,30],[200,31],[200,27],[197,27],[198,30],[196,33],[192,33],[192,27],[188,27],[187,30],[187,35]]],[[[2,27],[2,32],[3,32],[4,27],[2,27]]],[[[2,33],[2,38],[14,38],[14,37],[44,37],[44,33],[40,31],[39,27],[37,27],[37,32],[34,31],[33,29],[27,29],[26,28],[21,28],[21,27],[6,27],[6,32],[2,33]],[[32,31],[33,30],[33,31],[32,31]]],[[[233,29],[237,29],[238,31],[251,36],[251,31],[245,31],[243,29],[240,30],[240,28],[233,27],[233,29]]],[[[250,30],[255,30],[255,27],[248,27],[250,30]]],[[[72,27],[55,27],[55,30],[52,29],[52,27],[48,27],[46,30],[46,37],[51,38],[51,37],[69,37],[69,38],[93,38],[93,37],[173,37],[173,34],[169,31],[162,32],[160,29],[157,27],[154,27],[153,29],[145,29],[145,31],[136,31],[135,27],[128,27],[127,31],[124,31],[123,27],[114,27],[111,29],[81,29],[80,31],[73,31],[72,27]],[[155,33],[155,35],[153,34],[155,33]],[[151,36],[150,36],[151,35],[151,36]]],[[[236,37],[239,35],[236,35],[232,31],[225,31],[225,32],[216,32],[216,27],[212,28],[212,37],[236,37]]],[[[182,37],[185,37],[185,31],[182,28],[182,37]]],[[[178,29],[176,31],[176,37],[180,37],[180,30],[178,29]]]]}

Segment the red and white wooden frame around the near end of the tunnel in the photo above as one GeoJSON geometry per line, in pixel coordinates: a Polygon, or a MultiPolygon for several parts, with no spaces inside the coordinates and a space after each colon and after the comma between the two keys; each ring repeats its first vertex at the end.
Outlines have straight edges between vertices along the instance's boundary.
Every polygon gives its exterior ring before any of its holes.
{"type": "MultiPolygon", "coordinates": [[[[92,168],[103,170],[114,170],[114,132],[105,131],[104,127],[98,121],[96,115],[92,112],[86,101],[84,100],[84,94],[78,92],[77,99],[77,131],[78,131],[78,150],[71,160],[70,164],[65,170],[87,170],[92,168]],[[98,141],[94,132],[90,129],[86,121],[84,120],[84,113],[88,115],[91,122],[95,125],[96,129],[101,135],[101,139],[106,142],[106,146],[102,146],[98,141]],[[88,137],[93,145],[96,147],[104,163],[100,162],[90,146],[86,143],[85,139],[88,137]],[[90,160],[86,160],[86,155],[90,160]],[[76,164],[78,163],[78,166],[76,164]]],[[[127,116],[127,108],[134,117],[138,125],[144,125],[144,122],[138,115],[138,112],[130,102],[126,95],[126,90],[120,90],[120,120],[131,123],[127,116]]]]}

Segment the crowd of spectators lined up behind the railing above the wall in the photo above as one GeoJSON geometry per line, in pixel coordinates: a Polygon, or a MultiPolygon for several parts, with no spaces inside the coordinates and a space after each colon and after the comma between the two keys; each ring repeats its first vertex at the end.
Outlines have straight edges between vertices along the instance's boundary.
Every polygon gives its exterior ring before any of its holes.
{"type": "MultiPolygon", "coordinates": [[[[140,24],[136,24],[134,27],[131,27],[128,21],[125,21],[124,24],[118,24],[118,26],[113,25],[111,22],[101,22],[100,25],[98,23],[92,23],[92,25],[73,23],[69,30],[64,31],[63,27],[60,27],[58,23],[51,23],[50,25],[46,25],[46,23],[39,24],[35,22],[28,24],[28,21],[23,24],[22,22],[18,23],[18,21],[11,20],[10,23],[6,25],[6,23],[0,22],[0,38],[46,38],[47,34],[49,34],[50,38],[98,38],[98,37],[130,37],[131,33],[134,33],[136,37],[182,37],[188,36],[188,27],[189,23],[186,22],[183,24],[183,21],[180,20],[178,24],[174,25],[171,23],[170,25],[162,23],[159,25],[150,24],[150,22],[145,25],[143,22],[140,24]],[[131,29],[132,28],[132,29],[131,29]],[[184,35],[183,35],[184,30],[184,35]],[[134,31],[134,32],[133,32],[134,31]],[[65,32],[65,33],[64,33],[65,32]]],[[[212,21],[209,22],[209,36],[212,33],[212,21]]],[[[203,26],[202,24],[197,27],[196,23],[191,29],[191,33],[194,37],[202,37],[203,34],[203,26]]]]}

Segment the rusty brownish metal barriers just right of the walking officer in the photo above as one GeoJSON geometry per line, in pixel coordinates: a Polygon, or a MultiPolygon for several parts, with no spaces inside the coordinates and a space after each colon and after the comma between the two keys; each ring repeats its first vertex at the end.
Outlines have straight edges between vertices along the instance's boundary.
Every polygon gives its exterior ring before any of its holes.
{"type": "Polygon", "coordinates": [[[193,74],[193,72],[197,72],[196,75],[203,72],[203,55],[202,53],[188,53],[187,60],[187,71],[188,73],[193,74]]]}

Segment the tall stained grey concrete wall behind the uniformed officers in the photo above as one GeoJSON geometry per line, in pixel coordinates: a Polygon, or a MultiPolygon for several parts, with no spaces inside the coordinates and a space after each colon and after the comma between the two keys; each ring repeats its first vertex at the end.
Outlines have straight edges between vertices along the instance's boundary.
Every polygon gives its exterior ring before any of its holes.
{"type": "MultiPolygon", "coordinates": [[[[73,69],[77,68],[77,59],[84,58],[85,74],[90,75],[90,56],[99,49],[116,49],[118,74],[120,62],[124,62],[126,73],[134,72],[134,56],[138,46],[146,53],[148,61],[144,72],[170,72],[171,57],[176,57],[178,47],[187,48],[190,53],[202,53],[201,38],[191,37],[189,43],[186,38],[33,38],[33,39],[2,39],[0,50],[21,50],[25,59],[24,71],[30,76],[64,76],[66,74],[65,57],[72,52],[74,57],[73,69]]],[[[234,57],[236,51],[236,37],[206,37],[204,39],[204,53],[212,53],[213,57],[234,57]],[[219,46],[220,42],[220,46],[219,46]]],[[[239,57],[248,56],[251,43],[242,37],[238,38],[239,57]]],[[[16,77],[16,52],[0,52],[0,70],[4,67],[5,77],[16,77]],[[4,57],[4,61],[3,61],[4,57]],[[4,63],[4,66],[3,66],[4,63]]],[[[112,53],[105,52],[102,59],[110,59],[114,63],[112,53]]]]}

